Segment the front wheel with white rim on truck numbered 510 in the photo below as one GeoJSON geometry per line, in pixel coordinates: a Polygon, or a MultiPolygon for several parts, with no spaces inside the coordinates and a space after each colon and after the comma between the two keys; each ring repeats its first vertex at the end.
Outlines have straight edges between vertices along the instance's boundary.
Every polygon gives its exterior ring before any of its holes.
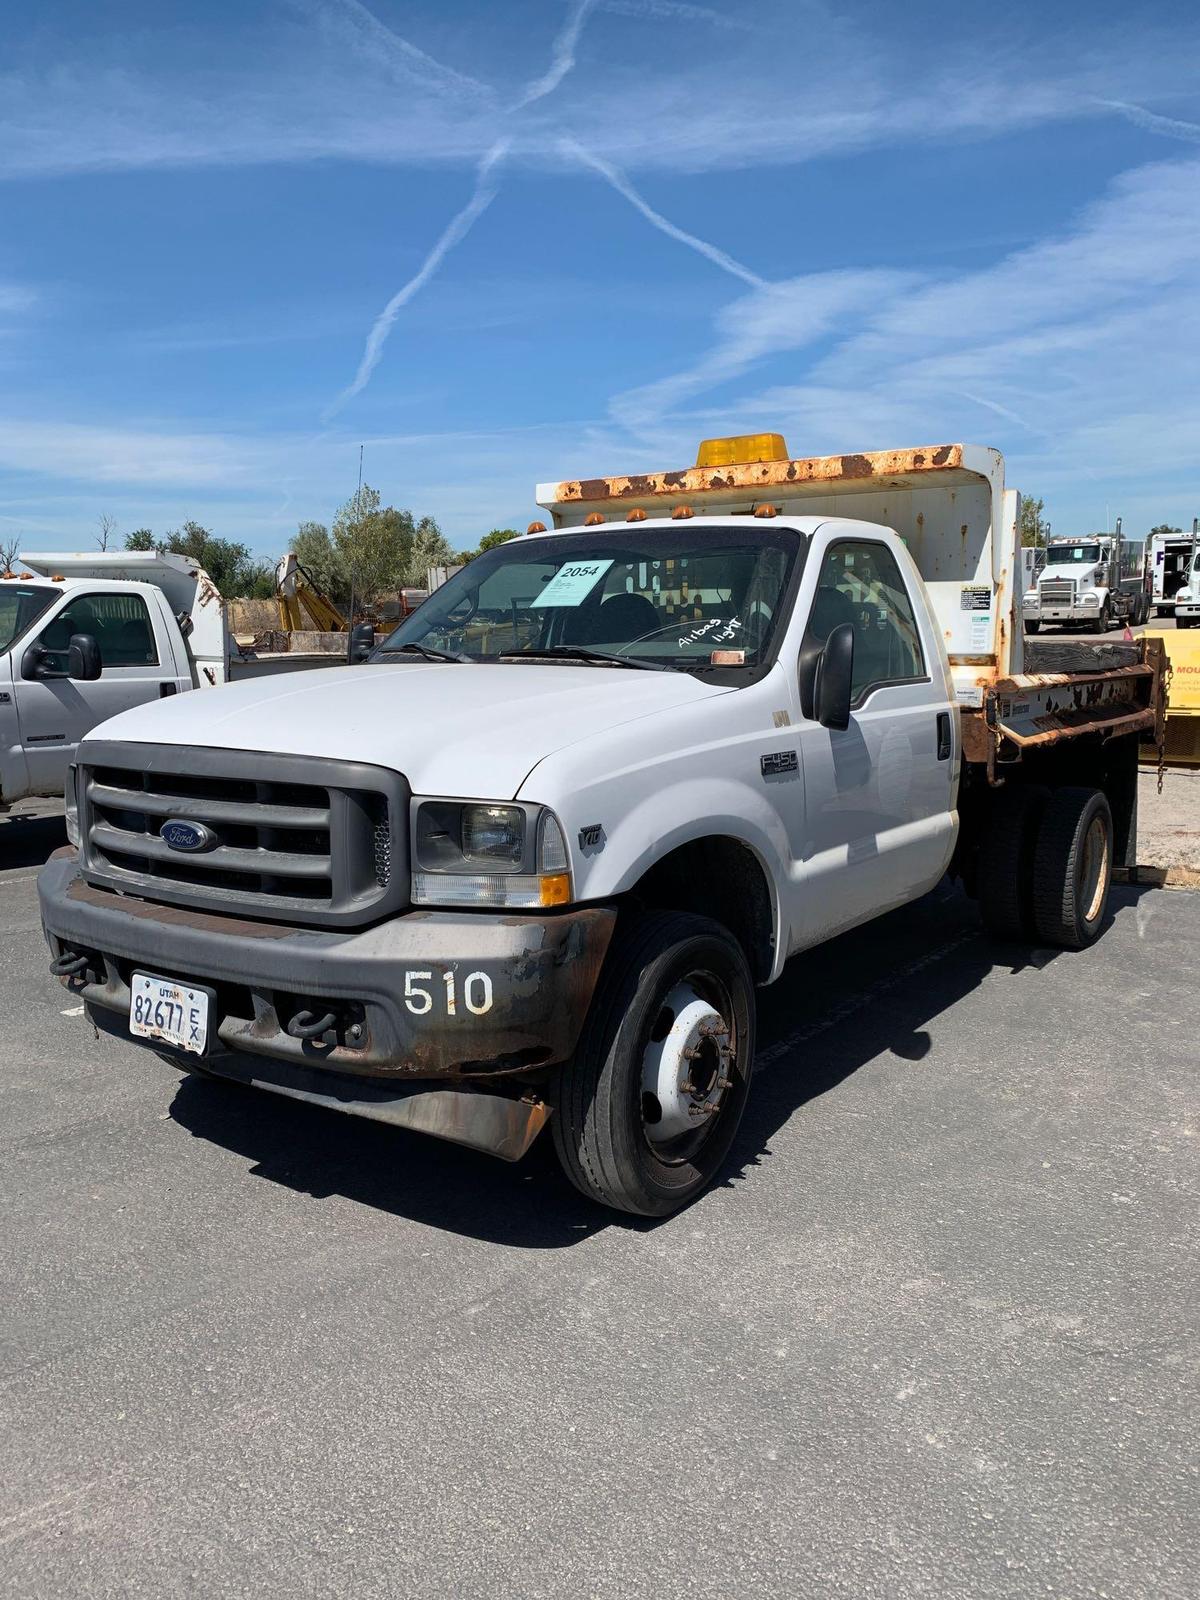
{"type": "Polygon", "coordinates": [[[694,1198],[738,1131],[754,1034],[754,978],[720,923],[648,912],[619,930],[555,1083],[550,1131],[574,1187],[635,1216],[694,1198]]]}

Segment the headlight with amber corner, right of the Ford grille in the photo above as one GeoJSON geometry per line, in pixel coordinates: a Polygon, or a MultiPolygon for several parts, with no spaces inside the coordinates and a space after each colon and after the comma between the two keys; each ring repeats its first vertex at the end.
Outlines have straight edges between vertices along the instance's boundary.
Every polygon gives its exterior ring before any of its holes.
{"type": "Polygon", "coordinates": [[[414,906],[568,906],[571,870],[546,806],[419,800],[413,816],[414,906]]]}

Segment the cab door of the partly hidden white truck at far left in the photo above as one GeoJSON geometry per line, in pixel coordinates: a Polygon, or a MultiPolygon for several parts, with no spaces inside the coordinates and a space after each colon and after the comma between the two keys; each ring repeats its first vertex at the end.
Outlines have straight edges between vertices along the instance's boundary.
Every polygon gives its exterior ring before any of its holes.
{"type": "Polygon", "coordinates": [[[13,661],[21,750],[29,792],[62,792],[67,765],[78,741],[101,722],[178,688],[171,642],[158,606],[136,592],[74,592],[13,661]],[[101,651],[101,675],[91,682],[69,677],[26,677],[35,645],[45,669],[67,670],[72,634],[91,634],[101,651]]]}

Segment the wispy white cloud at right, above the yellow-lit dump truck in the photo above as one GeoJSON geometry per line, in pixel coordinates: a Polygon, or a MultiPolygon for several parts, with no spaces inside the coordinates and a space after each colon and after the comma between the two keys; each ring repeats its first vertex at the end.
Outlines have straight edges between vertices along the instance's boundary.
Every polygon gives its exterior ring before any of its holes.
{"type": "Polygon", "coordinates": [[[883,275],[878,293],[870,275],[821,274],[746,296],[718,315],[704,362],[619,395],[613,414],[643,445],[738,427],[779,427],[800,454],[976,437],[1005,451],[1013,482],[1062,496],[1064,531],[1099,526],[1106,501],[1130,531],[1142,514],[1190,517],[1197,194],[1198,160],[1155,163],[1118,178],[1059,237],[981,272],[883,275]],[[802,381],[728,397],[754,362],[813,338],[827,347],[802,381]],[[714,390],[715,410],[680,410],[714,390]]]}

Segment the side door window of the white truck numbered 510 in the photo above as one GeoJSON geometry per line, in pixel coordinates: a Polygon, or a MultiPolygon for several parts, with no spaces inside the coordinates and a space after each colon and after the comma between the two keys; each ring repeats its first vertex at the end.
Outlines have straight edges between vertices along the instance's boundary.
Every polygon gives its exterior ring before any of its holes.
{"type": "Polygon", "coordinates": [[[806,650],[821,650],[843,622],[854,629],[854,706],[886,683],[918,683],[928,677],[912,602],[886,544],[842,539],[826,550],[806,650]]]}

